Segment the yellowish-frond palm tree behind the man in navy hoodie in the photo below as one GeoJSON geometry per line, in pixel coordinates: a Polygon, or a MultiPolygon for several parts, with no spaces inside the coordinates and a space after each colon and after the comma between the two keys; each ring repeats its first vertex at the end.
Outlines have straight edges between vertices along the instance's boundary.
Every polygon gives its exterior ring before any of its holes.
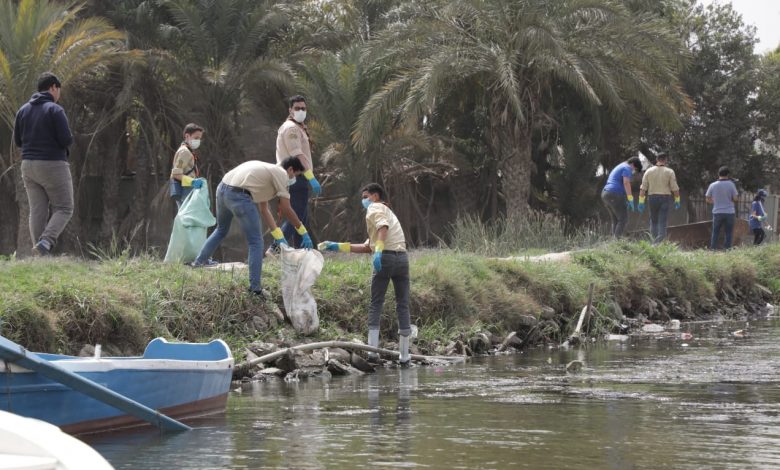
{"type": "MultiPolygon", "coordinates": [[[[125,56],[124,35],[106,20],[81,18],[83,6],[49,0],[7,1],[0,5],[0,131],[10,135],[19,106],[35,91],[38,76],[55,73],[67,88],[99,75],[125,56]]],[[[67,93],[64,94],[67,102],[67,93]]],[[[0,179],[13,169],[12,153],[0,155],[0,179]]],[[[18,172],[15,172],[18,173],[18,172]]],[[[15,175],[18,205],[17,249],[32,246],[26,229],[29,207],[21,178],[15,175]]],[[[7,187],[6,185],[3,185],[7,187]]],[[[12,227],[13,224],[3,224],[12,227]]]]}

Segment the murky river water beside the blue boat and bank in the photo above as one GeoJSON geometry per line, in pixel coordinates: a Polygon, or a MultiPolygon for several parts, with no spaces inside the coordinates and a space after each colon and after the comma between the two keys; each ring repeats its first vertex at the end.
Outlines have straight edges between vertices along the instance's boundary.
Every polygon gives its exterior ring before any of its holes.
{"type": "Polygon", "coordinates": [[[133,469],[777,468],[780,320],[738,329],[256,383],[192,432],[87,442],[133,469]]]}

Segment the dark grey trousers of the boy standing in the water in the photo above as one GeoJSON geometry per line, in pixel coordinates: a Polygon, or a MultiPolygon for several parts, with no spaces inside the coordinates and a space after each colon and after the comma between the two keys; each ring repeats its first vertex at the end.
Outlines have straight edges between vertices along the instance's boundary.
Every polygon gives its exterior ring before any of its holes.
{"type": "Polygon", "coordinates": [[[371,305],[368,307],[368,329],[378,330],[385,304],[387,286],[393,281],[395,305],[398,314],[398,334],[409,336],[409,256],[403,251],[382,253],[382,269],[371,276],[371,305]]]}

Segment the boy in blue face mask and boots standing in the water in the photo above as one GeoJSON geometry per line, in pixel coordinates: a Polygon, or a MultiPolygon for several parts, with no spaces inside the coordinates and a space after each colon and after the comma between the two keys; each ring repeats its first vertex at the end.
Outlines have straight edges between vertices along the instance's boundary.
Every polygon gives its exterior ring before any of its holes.
{"type": "MultiPolygon", "coordinates": [[[[398,315],[398,361],[402,367],[410,364],[409,334],[409,257],[406,253],[406,238],[401,223],[385,202],[385,191],[377,183],[367,184],[361,191],[361,204],[366,209],[368,240],[363,243],[337,243],[325,241],[318,245],[322,251],[343,253],[373,253],[373,274],[371,276],[371,305],[368,309],[368,345],[379,347],[379,324],[385,294],[390,281],[395,290],[396,314],[398,315]]],[[[376,354],[370,353],[369,360],[376,361],[376,354]]]]}

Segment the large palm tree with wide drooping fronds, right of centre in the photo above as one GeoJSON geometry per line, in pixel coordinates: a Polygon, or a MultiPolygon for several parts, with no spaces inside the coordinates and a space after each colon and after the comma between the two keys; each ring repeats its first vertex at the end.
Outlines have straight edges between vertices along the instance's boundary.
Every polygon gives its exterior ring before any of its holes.
{"type": "Polygon", "coordinates": [[[681,44],[649,14],[610,0],[409,2],[371,50],[392,79],[361,112],[354,140],[370,146],[391,125],[431,126],[451,97],[485,110],[485,142],[497,160],[507,215],[528,209],[535,131],[564,86],[585,109],[618,121],[640,115],[678,125],[688,106],[677,68],[681,44]],[[464,91],[465,90],[465,91],[464,91]]]}

